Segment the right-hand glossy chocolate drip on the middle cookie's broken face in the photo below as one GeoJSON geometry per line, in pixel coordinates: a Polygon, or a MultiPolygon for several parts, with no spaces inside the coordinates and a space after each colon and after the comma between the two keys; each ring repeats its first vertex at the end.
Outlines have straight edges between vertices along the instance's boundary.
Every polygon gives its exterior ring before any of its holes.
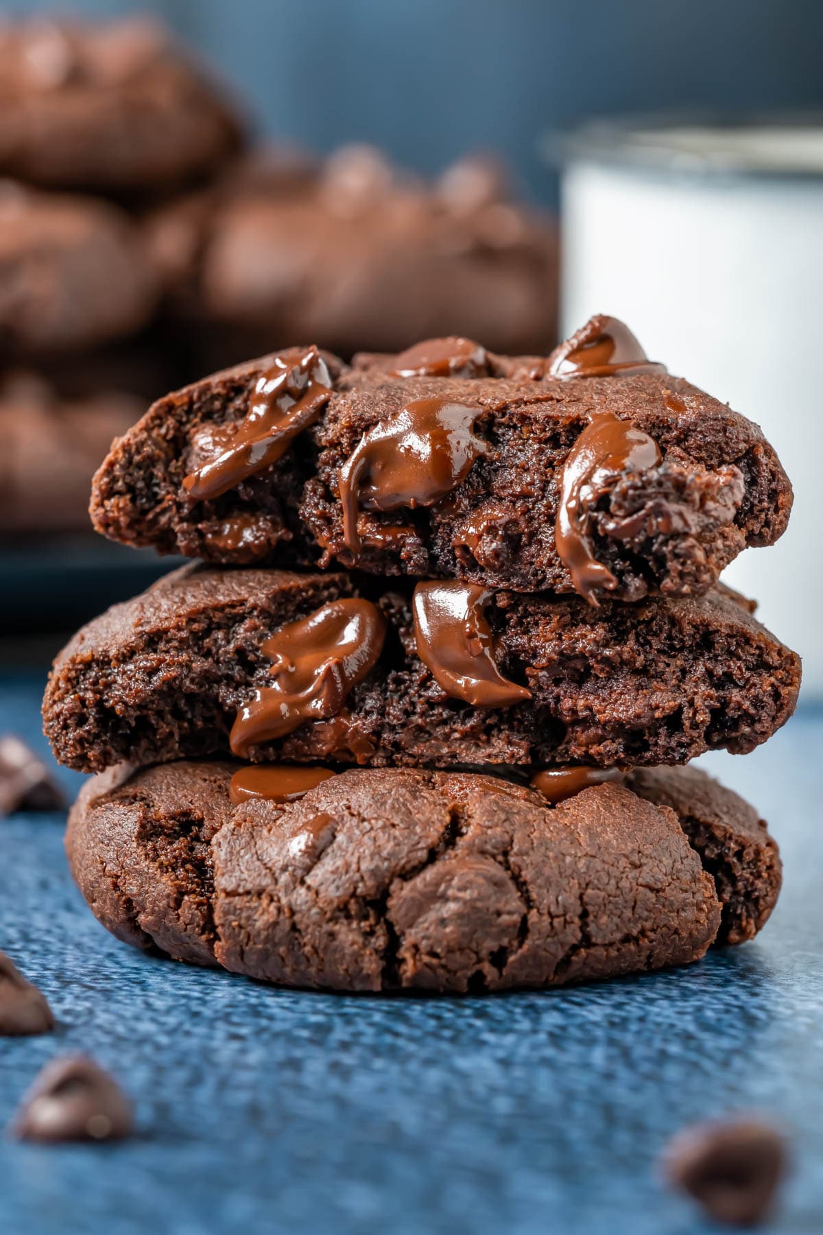
{"type": "Polygon", "coordinates": [[[417,655],[452,699],[475,708],[508,708],[532,692],[502,677],[495,663],[485,606],[494,595],[474,583],[418,583],[412,610],[417,655]]]}

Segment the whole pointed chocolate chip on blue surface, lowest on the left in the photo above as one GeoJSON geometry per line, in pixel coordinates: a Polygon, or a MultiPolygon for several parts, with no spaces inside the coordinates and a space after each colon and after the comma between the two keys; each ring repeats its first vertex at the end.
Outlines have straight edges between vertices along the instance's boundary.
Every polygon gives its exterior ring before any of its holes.
{"type": "Polygon", "coordinates": [[[109,1141],[128,1136],[132,1107],[117,1082],[81,1055],[47,1063],[12,1132],[26,1141],[109,1141]]]}

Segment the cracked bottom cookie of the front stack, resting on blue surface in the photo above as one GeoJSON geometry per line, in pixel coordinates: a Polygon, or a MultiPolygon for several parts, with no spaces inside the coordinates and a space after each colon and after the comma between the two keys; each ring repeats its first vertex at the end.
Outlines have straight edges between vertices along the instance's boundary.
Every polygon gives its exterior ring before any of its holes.
{"type": "Polygon", "coordinates": [[[550,806],[492,777],[411,769],[232,806],[234,767],[84,787],[69,862],[118,939],[286,986],[498,990],[698,960],[754,934],[780,887],[765,825],[700,772],[663,773],[675,809],[614,784],[550,806]],[[734,851],[739,884],[714,882],[707,842],[734,851]],[[724,936],[729,893],[744,925],[724,936]]]}

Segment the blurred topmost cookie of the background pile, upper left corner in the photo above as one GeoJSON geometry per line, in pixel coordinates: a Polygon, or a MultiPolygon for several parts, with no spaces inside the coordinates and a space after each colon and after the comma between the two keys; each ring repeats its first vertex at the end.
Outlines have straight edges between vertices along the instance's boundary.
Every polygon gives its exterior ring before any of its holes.
{"type": "Polygon", "coordinates": [[[225,99],[153,21],[0,31],[0,175],[144,195],[205,174],[238,144],[225,99]]]}

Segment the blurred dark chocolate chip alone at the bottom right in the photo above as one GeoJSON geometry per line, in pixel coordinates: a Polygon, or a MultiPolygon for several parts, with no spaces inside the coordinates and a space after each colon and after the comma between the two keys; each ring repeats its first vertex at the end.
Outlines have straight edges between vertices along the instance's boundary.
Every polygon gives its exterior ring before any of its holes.
{"type": "Polygon", "coordinates": [[[697,1124],[670,1142],[664,1172],[714,1221],[755,1226],[767,1218],[786,1173],[786,1145],[758,1119],[697,1124]]]}

